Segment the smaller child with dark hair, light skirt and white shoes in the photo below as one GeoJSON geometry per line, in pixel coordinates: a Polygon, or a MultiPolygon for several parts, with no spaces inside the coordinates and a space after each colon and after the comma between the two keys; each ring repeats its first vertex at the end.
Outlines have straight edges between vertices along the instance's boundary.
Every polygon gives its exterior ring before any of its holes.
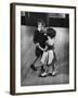
{"type": "Polygon", "coordinates": [[[48,40],[46,42],[46,48],[43,50],[43,54],[41,58],[41,62],[43,64],[44,72],[40,74],[41,77],[46,77],[47,75],[55,75],[55,52],[54,52],[54,40],[56,36],[56,32],[53,28],[47,29],[48,40]]]}

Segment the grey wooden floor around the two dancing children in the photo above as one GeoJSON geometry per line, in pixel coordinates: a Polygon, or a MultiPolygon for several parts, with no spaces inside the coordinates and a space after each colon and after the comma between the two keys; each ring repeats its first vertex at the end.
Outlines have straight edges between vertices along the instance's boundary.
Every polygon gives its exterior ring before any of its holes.
{"type": "MultiPolygon", "coordinates": [[[[35,60],[34,27],[22,26],[21,35],[21,85],[49,85],[69,83],[69,32],[68,28],[55,28],[56,76],[39,77],[40,69],[34,72],[30,64],[35,60]]],[[[36,66],[40,66],[40,60],[36,66]]]]}

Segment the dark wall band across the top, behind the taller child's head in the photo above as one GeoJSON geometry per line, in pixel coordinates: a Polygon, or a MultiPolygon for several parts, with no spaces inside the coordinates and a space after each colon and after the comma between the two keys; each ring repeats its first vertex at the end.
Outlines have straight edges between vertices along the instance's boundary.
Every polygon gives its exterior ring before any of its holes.
{"type": "Polygon", "coordinates": [[[48,13],[26,12],[25,16],[21,17],[21,24],[26,26],[37,26],[38,19],[42,19],[46,22],[46,26],[69,27],[68,14],[65,14],[65,17],[49,17],[48,13]]]}

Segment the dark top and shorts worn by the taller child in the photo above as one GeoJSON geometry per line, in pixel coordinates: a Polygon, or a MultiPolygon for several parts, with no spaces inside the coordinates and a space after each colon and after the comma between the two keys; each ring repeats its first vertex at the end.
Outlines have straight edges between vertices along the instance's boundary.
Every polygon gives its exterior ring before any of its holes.
{"type": "MultiPolygon", "coordinates": [[[[36,30],[34,34],[34,42],[39,44],[41,48],[46,48],[46,41],[48,40],[48,37],[44,33],[36,30]]],[[[42,56],[43,51],[39,49],[39,47],[36,47],[35,50],[36,57],[42,56]]]]}

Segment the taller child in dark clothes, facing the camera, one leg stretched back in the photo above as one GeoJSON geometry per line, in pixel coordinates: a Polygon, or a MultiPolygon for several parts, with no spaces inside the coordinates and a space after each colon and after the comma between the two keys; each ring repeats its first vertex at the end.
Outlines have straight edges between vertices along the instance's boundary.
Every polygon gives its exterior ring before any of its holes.
{"type": "MultiPolygon", "coordinates": [[[[46,30],[44,30],[44,22],[42,20],[38,20],[38,28],[34,34],[34,44],[36,45],[36,59],[30,65],[30,68],[34,71],[37,71],[37,68],[35,66],[36,61],[42,56],[43,51],[39,48],[41,46],[42,48],[46,47],[46,41],[47,41],[47,36],[46,36],[46,30]]],[[[41,71],[43,71],[43,66],[41,68],[41,71]]]]}

